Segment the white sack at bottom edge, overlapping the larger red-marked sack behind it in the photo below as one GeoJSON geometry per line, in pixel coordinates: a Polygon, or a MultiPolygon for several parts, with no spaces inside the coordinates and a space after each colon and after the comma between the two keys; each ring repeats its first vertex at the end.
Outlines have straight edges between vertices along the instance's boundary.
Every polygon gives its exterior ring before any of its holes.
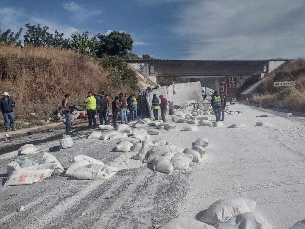
{"type": "Polygon", "coordinates": [[[214,225],[217,229],[272,229],[263,216],[254,212],[246,212],[230,218],[227,222],[214,225]]]}

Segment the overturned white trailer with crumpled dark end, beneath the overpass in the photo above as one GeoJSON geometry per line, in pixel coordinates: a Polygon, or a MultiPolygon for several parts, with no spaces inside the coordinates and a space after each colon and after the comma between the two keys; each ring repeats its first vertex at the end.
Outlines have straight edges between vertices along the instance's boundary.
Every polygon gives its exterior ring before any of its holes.
{"type": "MultiPolygon", "coordinates": [[[[142,90],[138,96],[138,114],[142,117],[153,116],[151,111],[152,95],[156,94],[159,98],[163,95],[168,101],[167,114],[172,114],[174,108],[180,108],[189,101],[202,101],[200,82],[175,83],[169,86],[156,86],[155,88],[147,88],[142,90]]],[[[160,100],[159,100],[160,101],[160,100]]],[[[159,117],[160,108],[159,108],[159,117]]]]}

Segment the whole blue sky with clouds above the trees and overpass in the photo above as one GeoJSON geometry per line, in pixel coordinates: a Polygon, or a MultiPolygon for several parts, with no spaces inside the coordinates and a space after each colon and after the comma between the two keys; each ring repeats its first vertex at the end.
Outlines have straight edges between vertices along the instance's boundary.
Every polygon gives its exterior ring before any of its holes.
{"type": "Polygon", "coordinates": [[[0,28],[48,25],[125,31],[133,53],[160,59],[267,59],[305,55],[304,0],[1,0],[0,28]]]}

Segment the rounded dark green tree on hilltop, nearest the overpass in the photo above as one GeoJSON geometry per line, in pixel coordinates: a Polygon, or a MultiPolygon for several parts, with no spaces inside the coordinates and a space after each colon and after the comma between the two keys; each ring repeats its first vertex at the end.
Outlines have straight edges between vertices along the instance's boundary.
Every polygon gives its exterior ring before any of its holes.
{"type": "Polygon", "coordinates": [[[131,51],[133,40],[130,34],[112,31],[109,35],[98,33],[99,47],[97,56],[102,57],[103,54],[124,56],[131,51]]]}

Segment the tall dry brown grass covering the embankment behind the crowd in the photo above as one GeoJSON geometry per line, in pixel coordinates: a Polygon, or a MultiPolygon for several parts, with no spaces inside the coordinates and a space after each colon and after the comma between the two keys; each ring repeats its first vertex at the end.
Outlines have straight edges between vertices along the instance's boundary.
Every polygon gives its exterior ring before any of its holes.
{"type": "Polygon", "coordinates": [[[28,120],[35,112],[43,120],[61,105],[65,93],[71,94],[71,105],[81,105],[88,91],[113,97],[131,89],[111,85],[97,62],[72,50],[0,46],[0,91],[16,101],[16,118],[28,120]]]}

